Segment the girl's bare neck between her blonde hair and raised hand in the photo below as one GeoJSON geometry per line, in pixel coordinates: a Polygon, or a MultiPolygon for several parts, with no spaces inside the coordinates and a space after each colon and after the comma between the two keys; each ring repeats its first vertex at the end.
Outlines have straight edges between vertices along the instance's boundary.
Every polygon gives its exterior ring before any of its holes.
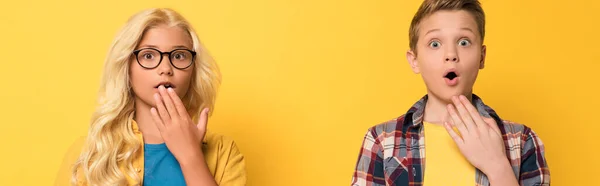
{"type": "Polygon", "coordinates": [[[152,108],[150,105],[136,97],[135,116],[133,119],[138,124],[138,128],[140,129],[140,132],[142,132],[145,143],[163,143],[164,140],[160,135],[160,131],[158,131],[156,124],[154,124],[154,121],[152,120],[150,108],[152,108]]]}

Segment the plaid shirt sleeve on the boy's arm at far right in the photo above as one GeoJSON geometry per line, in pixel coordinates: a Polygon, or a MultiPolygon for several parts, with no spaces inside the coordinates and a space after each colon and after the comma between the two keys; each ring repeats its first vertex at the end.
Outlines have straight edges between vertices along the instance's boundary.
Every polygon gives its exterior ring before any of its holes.
{"type": "Polygon", "coordinates": [[[550,169],[544,157],[544,144],[531,129],[527,129],[523,136],[525,143],[521,151],[521,174],[519,183],[522,186],[549,186],[550,169]]]}

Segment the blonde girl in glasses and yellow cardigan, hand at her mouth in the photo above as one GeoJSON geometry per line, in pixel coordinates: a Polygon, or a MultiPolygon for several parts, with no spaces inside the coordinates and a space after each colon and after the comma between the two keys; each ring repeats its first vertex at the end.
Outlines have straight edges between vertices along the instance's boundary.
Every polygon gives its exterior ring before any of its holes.
{"type": "Polygon", "coordinates": [[[133,15],[110,47],[89,133],[67,153],[56,185],[245,185],[235,143],[206,131],[219,82],[180,14],[133,15]]]}

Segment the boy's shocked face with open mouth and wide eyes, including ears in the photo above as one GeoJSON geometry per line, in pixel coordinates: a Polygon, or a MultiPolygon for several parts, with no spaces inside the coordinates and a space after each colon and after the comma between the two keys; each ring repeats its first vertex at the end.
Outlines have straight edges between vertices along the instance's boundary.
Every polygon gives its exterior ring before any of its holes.
{"type": "Polygon", "coordinates": [[[477,23],[467,11],[438,11],[419,24],[415,51],[407,59],[428,89],[442,100],[467,95],[484,67],[485,46],[477,23]]]}

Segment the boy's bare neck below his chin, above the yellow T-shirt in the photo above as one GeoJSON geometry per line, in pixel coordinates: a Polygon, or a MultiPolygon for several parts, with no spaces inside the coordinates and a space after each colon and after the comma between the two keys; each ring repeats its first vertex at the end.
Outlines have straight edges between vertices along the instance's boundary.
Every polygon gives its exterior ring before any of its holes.
{"type": "MultiPolygon", "coordinates": [[[[469,102],[472,101],[473,96],[471,93],[465,94],[465,96],[467,99],[469,99],[469,102]]],[[[439,125],[449,121],[450,115],[448,114],[448,109],[446,109],[448,104],[454,105],[451,99],[442,99],[428,91],[427,103],[425,104],[425,111],[423,113],[423,121],[439,125]]]]}

